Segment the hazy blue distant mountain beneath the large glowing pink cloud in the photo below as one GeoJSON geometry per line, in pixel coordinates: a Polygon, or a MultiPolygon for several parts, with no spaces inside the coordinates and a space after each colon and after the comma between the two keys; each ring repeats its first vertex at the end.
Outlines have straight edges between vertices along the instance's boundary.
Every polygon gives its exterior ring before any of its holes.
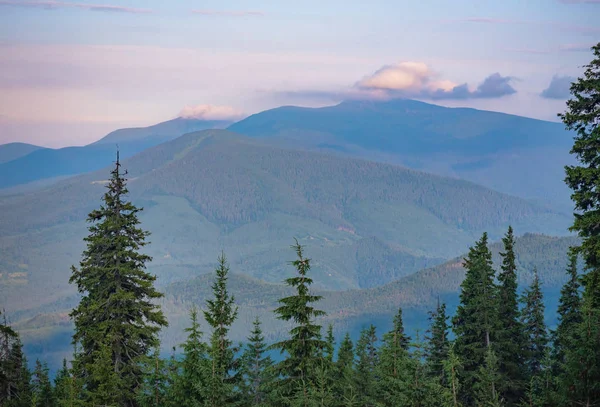
{"type": "Polygon", "coordinates": [[[268,143],[391,162],[467,179],[569,211],[573,139],[559,123],[415,100],[285,106],[229,130],[268,143]]]}

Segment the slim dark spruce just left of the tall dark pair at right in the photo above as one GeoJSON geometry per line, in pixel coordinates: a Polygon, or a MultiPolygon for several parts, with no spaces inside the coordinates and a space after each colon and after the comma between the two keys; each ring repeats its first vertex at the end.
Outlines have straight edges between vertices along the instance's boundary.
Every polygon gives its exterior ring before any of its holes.
{"type": "Polygon", "coordinates": [[[446,385],[446,372],[444,361],[448,359],[450,341],[448,340],[448,316],[446,315],[446,304],[440,304],[438,300],[434,312],[429,313],[431,326],[427,332],[427,365],[428,372],[432,378],[436,378],[438,383],[446,385]]]}

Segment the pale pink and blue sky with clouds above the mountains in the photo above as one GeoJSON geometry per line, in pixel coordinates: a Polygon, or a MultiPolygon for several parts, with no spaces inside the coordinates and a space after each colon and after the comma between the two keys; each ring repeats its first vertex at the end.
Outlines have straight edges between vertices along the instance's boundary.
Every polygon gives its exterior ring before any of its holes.
{"type": "Polygon", "coordinates": [[[556,121],[600,0],[0,0],[0,144],[407,97],[556,121]]]}

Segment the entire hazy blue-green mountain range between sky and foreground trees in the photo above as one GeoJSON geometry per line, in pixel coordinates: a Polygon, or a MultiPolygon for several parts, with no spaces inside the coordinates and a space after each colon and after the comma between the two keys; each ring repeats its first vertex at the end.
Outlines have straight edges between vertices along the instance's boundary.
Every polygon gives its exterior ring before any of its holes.
{"type": "Polygon", "coordinates": [[[231,125],[175,119],[84,147],[0,146],[0,306],[31,352],[68,343],[70,266],[116,144],[151,232],[149,270],[167,294],[165,343],[208,295],[222,250],[243,305],[236,335],[256,314],[271,318],[294,237],[340,329],[385,326],[400,305],[422,326],[437,298],[456,302],[456,256],[508,225],[529,233],[519,239],[522,281],[537,267],[552,304],[576,242],[549,236],[567,235],[572,221],[561,181],[571,142],[556,123],[396,100],[282,107],[231,125]]]}

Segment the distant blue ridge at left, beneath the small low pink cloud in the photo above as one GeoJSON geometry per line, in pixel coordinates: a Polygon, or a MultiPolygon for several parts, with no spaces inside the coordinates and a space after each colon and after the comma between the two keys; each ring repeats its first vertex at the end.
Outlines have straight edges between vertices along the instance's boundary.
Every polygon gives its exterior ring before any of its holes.
{"type": "MultiPolygon", "coordinates": [[[[184,133],[229,124],[231,122],[177,118],[149,127],[116,130],[84,147],[32,150],[10,161],[0,159],[0,188],[95,171],[114,161],[117,148],[121,157],[127,158],[184,133]]],[[[8,146],[11,145],[0,146],[0,158],[8,146]]]]}

